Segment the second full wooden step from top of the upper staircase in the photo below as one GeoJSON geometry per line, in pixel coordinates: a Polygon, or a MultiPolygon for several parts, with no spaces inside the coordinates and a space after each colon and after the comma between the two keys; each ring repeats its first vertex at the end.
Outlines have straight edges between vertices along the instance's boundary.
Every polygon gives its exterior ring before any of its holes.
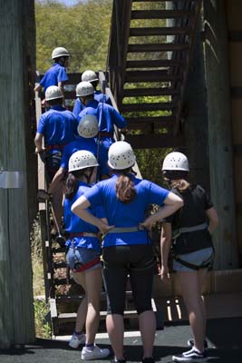
{"type": "Polygon", "coordinates": [[[186,35],[189,34],[189,27],[164,26],[164,27],[139,27],[131,28],[130,36],[149,36],[149,35],[186,35]]]}

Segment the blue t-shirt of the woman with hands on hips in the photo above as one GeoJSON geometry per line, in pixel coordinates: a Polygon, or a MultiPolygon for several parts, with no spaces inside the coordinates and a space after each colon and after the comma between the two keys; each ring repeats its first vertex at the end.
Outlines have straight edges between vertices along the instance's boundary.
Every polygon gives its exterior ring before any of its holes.
{"type": "MultiPolygon", "coordinates": [[[[140,180],[131,175],[136,198],[130,203],[123,203],[116,197],[117,175],[98,182],[84,196],[92,207],[102,205],[109,225],[115,227],[134,227],[145,221],[145,213],[150,204],[162,205],[169,191],[159,185],[146,180],[140,180]]],[[[133,245],[151,243],[147,231],[109,233],[105,236],[103,247],[117,245],[133,245]]]]}

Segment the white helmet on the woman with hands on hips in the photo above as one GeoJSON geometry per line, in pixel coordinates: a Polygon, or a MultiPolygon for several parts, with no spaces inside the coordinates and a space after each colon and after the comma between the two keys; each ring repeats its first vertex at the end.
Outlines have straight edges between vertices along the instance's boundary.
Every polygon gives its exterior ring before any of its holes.
{"type": "Polygon", "coordinates": [[[114,142],[109,149],[108,164],[111,169],[123,170],[131,168],[136,158],[128,142],[114,142]]]}

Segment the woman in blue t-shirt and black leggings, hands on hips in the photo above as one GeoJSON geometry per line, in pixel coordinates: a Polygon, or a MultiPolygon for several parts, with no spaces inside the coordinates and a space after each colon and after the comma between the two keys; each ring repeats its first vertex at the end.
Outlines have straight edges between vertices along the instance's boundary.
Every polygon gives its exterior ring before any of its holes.
{"type": "Polygon", "coordinates": [[[156,321],[151,307],[154,256],[148,235],[152,223],[177,211],[182,200],[160,186],[136,178],[131,172],[135,155],[127,142],[114,142],[109,150],[111,179],[98,182],[74,204],[72,211],[105,234],[103,240],[103,276],[108,298],[107,330],[115,362],[123,357],[123,312],[128,275],[139,316],[143,343],[142,362],[152,363],[156,321]],[[151,203],[162,206],[146,219],[151,203]],[[100,206],[108,224],[94,217],[88,208],[100,206]],[[118,289],[117,289],[118,287],[118,289]]]}

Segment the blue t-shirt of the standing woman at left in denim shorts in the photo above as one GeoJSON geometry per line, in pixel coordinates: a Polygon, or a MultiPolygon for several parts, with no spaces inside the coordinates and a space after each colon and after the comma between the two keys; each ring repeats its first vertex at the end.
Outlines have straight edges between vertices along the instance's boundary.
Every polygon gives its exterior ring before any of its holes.
{"type": "MultiPolygon", "coordinates": [[[[89,191],[90,187],[86,182],[79,182],[79,188],[76,192],[75,196],[72,200],[64,199],[63,201],[63,218],[64,218],[64,226],[65,231],[69,233],[80,233],[80,232],[89,232],[89,233],[97,233],[97,227],[93,226],[86,221],[82,221],[76,214],[72,212],[73,202],[76,201],[79,197],[81,197],[86,191],[89,191]]],[[[97,208],[89,208],[93,215],[98,218],[104,218],[104,212],[102,207],[97,208]]],[[[67,240],[65,245],[70,246],[72,241],[74,241],[75,247],[85,247],[86,249],[94,249],[101,251],[100,241],[95,237],[82,237],[77,236],[72,240],[67,240]]]]}

